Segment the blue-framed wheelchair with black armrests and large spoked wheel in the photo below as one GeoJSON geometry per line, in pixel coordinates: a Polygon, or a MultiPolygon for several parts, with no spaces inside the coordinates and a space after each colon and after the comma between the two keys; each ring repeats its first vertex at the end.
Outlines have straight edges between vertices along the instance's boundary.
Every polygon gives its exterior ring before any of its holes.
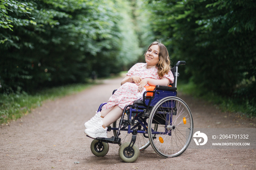
{"type": "MultiPolygon", "coordinates": [[[[163,158],[177,157],[188,147],[193,134],[193,119],[188,105],[177,97],[178,61],[172,67],[174,83],[157,85],[143,93],[143,100],[136,100],[123,109],[123,114],[108,127],[111,138],[96,138],[91,142],[95,156],[103,157],[109,151],[109,143],[118,144],[119,157],[124,162],[134,162],[139,152],[148,146],[163,158]]],[[[114,90],[115,91],[115,90],[114,90]]],[[[113,92],[114,93],[114,92],[113,92]]],[[[106,103],[102,103],[98,112],[106,103]]]]}

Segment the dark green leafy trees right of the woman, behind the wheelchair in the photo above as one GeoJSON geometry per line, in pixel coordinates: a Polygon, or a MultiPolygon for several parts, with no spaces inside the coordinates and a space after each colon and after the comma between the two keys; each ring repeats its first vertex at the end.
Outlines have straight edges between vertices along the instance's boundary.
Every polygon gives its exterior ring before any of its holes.
{"type": "Polygon", "coordinates": [[[199,89],[255,103],[253,0],[155,0],[148,6],[172,60],[187,62],[182,77],[199,89]]]}

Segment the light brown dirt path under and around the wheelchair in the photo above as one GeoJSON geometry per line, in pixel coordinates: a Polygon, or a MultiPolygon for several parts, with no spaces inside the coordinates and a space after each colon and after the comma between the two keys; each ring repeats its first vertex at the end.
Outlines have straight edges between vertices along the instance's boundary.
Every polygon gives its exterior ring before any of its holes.
{"type": "MultiPolygon", "coordinates": [[[[124,163],[118,156],[119,146],[109,144],[105,157],[95,157],[90,151],[92,139],[84,135],[83,124],[120,81],[105,80],[79,94],[48,101],[1,126],[0,169],[256,169],[255,148],[187,149],[179,157],[164,159],[148,147],[135,162],[124,163]]],[[[190,107],[195,128],[255,128],[255,121],[222,113],[193,97],[179,97],[190,107]]]]}

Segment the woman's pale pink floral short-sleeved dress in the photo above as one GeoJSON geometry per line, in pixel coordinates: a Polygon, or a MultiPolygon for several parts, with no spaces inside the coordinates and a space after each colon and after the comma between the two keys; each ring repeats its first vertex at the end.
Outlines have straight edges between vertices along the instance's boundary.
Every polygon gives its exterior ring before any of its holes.
{"type": "MultiPolygon", "coordinates": [[[[140,76],[142,79],[144,78],[154,78],[160,80],[161,78],[157,74],[157,67],[151,67],[147,69],[147,63],[137,63],[128,71],[127,76],[140,76]]],[[[164,78],[168,78],[170,83],[173,83],[174,77],[171,71],[168,74],[163,76],[164,78]]],[[[102,109],[109,109],[115,105],[118,105],[121,109],[124,109],[125,106],[132,104],[135,100],[138,99],[136,94],[138,93],[138,85],[135,83],[126,82],[120,88],[116,90],[116,92],[109,98],[108,103],[105,104],[102,109]]]]}

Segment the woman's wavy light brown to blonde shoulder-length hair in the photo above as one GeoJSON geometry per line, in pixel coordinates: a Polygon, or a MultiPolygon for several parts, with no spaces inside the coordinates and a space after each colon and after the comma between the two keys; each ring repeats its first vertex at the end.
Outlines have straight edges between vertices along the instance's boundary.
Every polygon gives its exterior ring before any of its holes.
{"type": "MultiPolygon", "coordinates": [[[[165,74],[168,74],[168,72],[171,69],[169,53],[165,45],[163,45],[161,42],[158,42],[158,41],[151,43],[151,45],[148,46],[148,49],[153,45],[158,45],[159,47],[159,51],[158,51],[159,62],[157,64],[157,70],[158,70],[157,73],[159,77],[163,77],[165,74]]],[[[146,56],[147,51],[145,52],[144,56],[146,56]]]]}

